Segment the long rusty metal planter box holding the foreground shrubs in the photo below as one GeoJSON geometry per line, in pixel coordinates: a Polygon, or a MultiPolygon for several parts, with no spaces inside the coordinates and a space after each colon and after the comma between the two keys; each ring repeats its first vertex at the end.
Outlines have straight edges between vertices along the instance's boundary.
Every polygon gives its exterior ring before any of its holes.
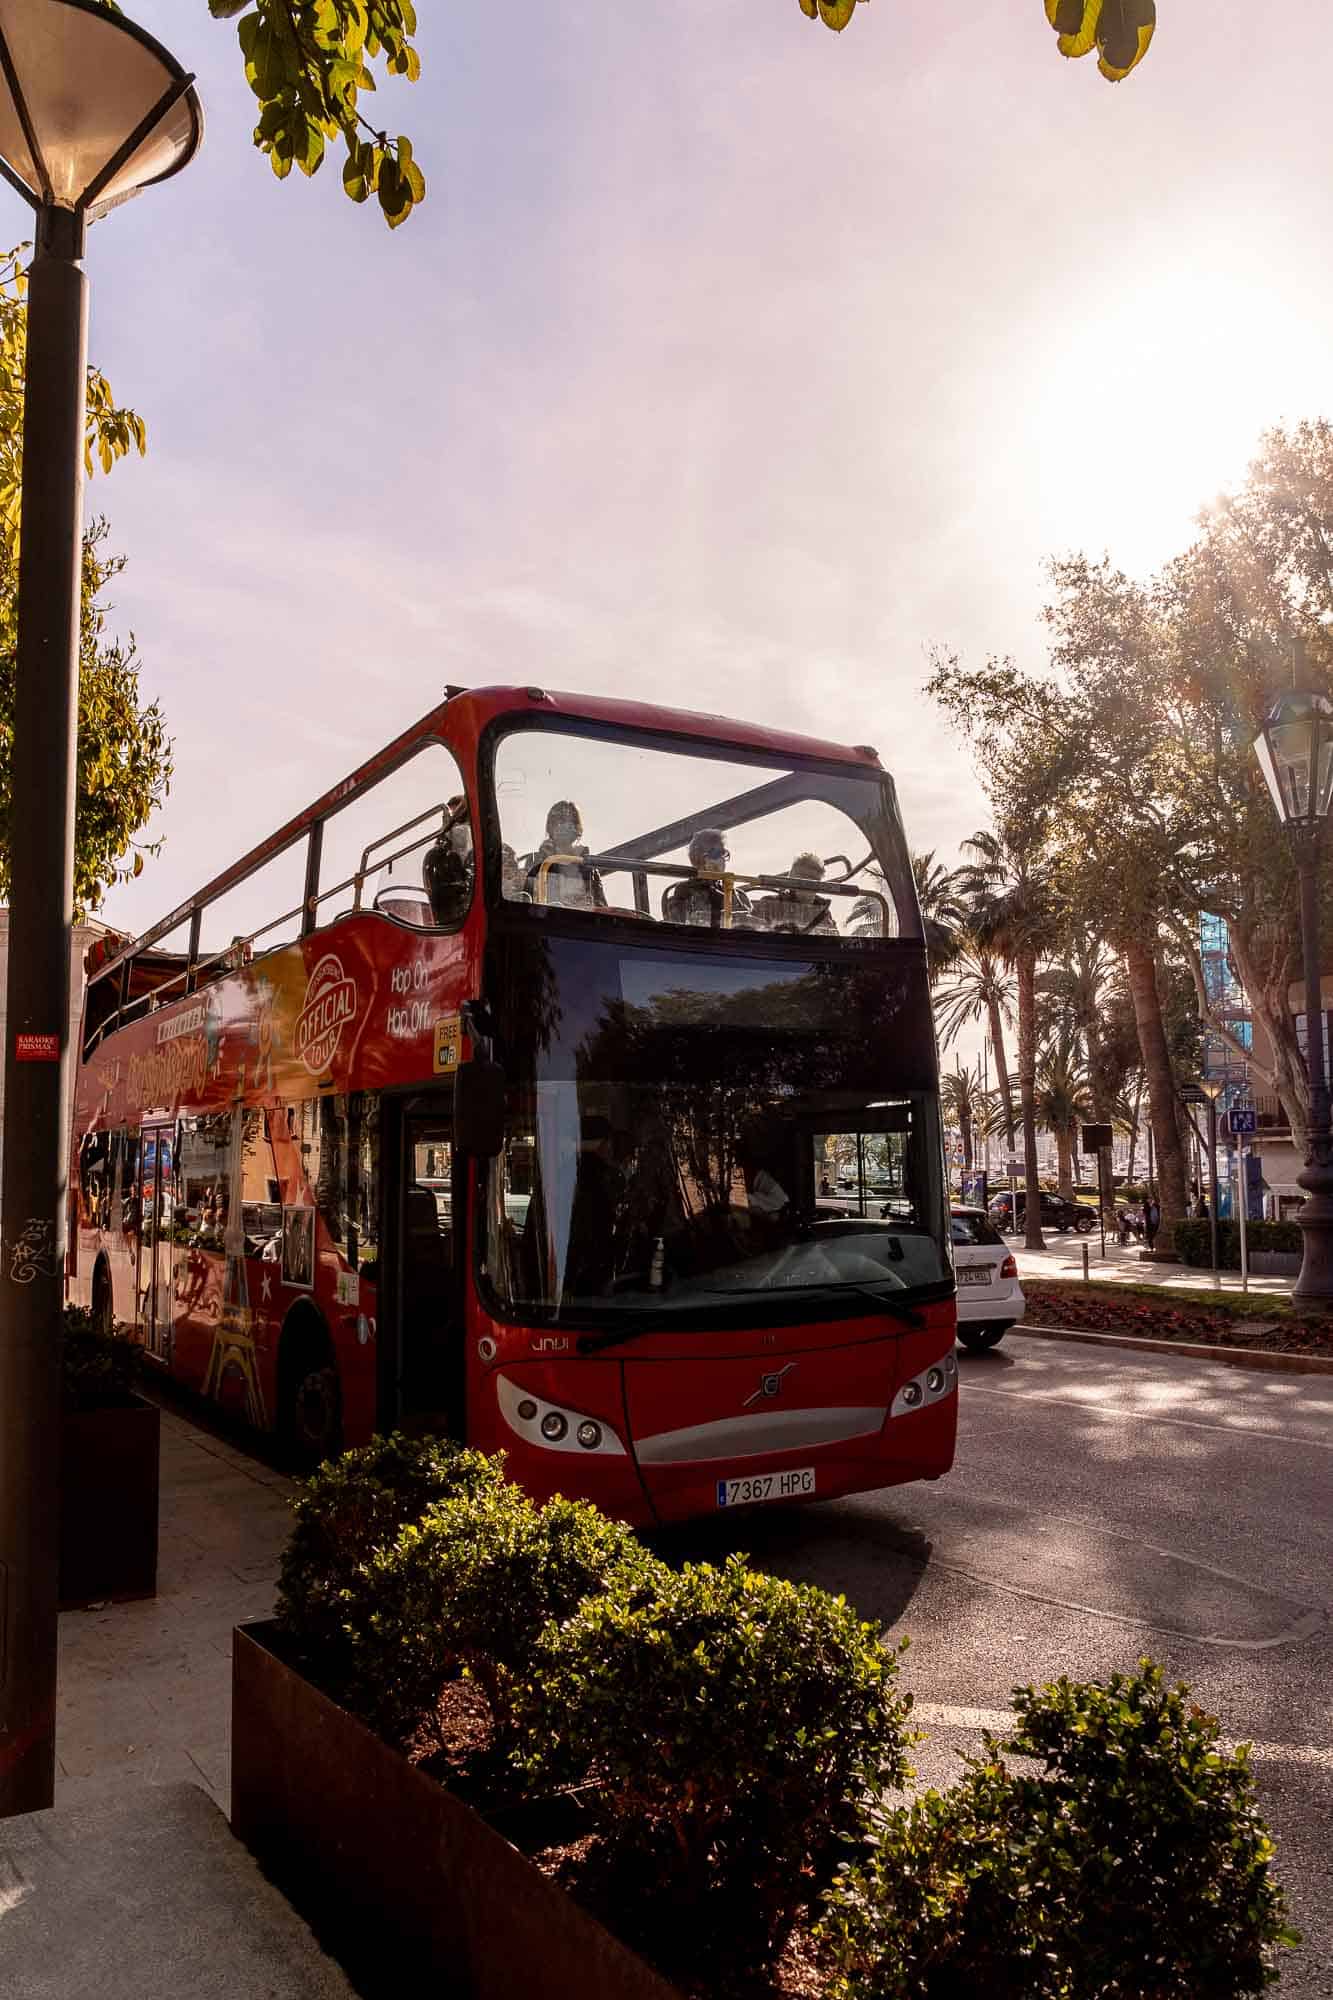
{"type": "Polygon", "coordinates": [[[681,2000],[516,1846],[320,1694],[272,1624],[232,1646],[232,1830],[362,1990],[681,2000]]]}

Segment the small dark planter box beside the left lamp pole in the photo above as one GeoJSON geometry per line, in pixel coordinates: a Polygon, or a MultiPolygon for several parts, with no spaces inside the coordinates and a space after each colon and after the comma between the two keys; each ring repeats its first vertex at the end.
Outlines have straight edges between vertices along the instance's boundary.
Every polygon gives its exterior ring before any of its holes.
{"type": "Polygon", "coordinates": [[[134,1394],[116,1408],[62,1412],[62,1610],[156,1596],[160,1428],[160,1410],[134,1394]]]}

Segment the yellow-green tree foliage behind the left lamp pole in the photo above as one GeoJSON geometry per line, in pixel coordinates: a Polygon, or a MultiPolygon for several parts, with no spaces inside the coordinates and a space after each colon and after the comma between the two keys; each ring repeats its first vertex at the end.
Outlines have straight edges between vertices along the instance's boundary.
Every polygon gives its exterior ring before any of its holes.
{"type": "MultiPolygon", "coordinates": [[[[18,644],[18,514],[22,496],[22,400],[28,356],[26,278],[20,256],[0,258],[0,896],[10,880],[10,764],[14,746],[14,672],[18,644]]],[[[146,444],[140,418],[116,404],[100,370],[88,370],[86,464],[110,472],[146,444]]],[[[106,522],[84,534],[78,632],[78,806],[74,820],[74,904],[94,910],[104,890],[138,874],[136,836],[160,806],[172,760],[162,710],[142,704],[134,642],[106,630],[106,588],[124,558],[106,554],[106,522]],[[124,856],[132,860],[126,864],[124,856]]]]}

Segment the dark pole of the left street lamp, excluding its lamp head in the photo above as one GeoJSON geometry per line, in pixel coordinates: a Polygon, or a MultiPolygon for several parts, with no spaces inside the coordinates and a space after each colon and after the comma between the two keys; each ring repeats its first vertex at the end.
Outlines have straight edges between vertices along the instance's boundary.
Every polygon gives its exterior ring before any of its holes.
{"type": "Polygon", "coordinates": [[[0,1196],[0,1818],[52,1804],[60,1314],[84,486],[84,218],[44,206],[28,272],[0,1196]]]}

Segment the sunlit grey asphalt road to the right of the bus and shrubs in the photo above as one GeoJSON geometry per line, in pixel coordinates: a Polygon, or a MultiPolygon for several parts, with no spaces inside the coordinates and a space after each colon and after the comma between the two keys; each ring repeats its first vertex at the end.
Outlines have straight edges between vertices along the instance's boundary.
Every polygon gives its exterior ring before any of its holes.
{"type": "Polygon", "coordinates": [[[1163,1662],[1255,1744],[1305,1934],[1275,1992],[1333,1994],[1333,1376],[1019,1334],[959,1366],[949,1478],[755,1510],[693,1552],[725,1536],[911,1634],[929,1784],[1015,1684],[1163,1662]]]}

